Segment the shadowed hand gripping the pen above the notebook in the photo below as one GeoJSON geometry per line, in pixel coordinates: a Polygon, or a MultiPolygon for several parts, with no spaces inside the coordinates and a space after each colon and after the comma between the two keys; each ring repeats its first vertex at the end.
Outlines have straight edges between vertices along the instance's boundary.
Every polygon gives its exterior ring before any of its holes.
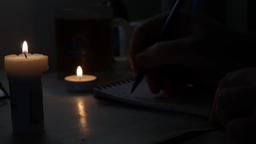
{"type": "Polygon", "coordinates": [[[168,71],[176,66],[188,69],[176,73],[194,77],[198,85],[214,93],[227,72],[250,65],[247,58],[252,57],[245,54],[248,51],[237,49],[245,42],[240,34],[188,11],[179,14],[169,40],[155,43],[167,16],[163,13],[136,27],[129,46],[131,66],[136,73],[140,67],[148,69],[145,77],[152,93],[177,89],[176,81],[182,78],[168,71]]]}

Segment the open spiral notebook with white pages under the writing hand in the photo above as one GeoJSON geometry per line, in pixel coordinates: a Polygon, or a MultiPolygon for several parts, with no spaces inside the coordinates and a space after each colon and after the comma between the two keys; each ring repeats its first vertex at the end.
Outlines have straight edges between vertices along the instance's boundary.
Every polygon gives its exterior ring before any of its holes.
{"type": "Polygon", "coordinates": [[[175,113],[207,118],[211,111],[210,96],[182,97],[167,96],[164,93],[152,94],[143,80],[131,94],[134,79],[128,79],[93,88],[96,97],[111,99],[140,107],[161,109],[175,113]]]}

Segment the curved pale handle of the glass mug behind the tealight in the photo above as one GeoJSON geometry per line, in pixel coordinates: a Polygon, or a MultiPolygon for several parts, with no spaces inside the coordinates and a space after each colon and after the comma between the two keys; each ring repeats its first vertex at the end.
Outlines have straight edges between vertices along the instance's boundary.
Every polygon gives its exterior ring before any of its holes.
{"type": "Polygon", "coordinates": [[[128,61],[128,47],[133,32],[133,27],[122,18],[115,18],[112,27],[119,26],[120,56],[115,56],[115,61],[128,61]]]}

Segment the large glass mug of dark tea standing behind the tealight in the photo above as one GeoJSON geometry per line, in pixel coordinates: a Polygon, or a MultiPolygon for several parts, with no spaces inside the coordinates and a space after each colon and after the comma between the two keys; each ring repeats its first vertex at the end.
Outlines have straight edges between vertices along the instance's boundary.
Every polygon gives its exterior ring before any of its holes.
{"type": "Polygon", "coordinates": [[[107,5],[57,9],[54,16],[59,78],[75,75],[78,66],[98,77],[113,72],[113,28],[123,27],[130,37],[127,21],[113,19],[112,7],[107,5]]]}

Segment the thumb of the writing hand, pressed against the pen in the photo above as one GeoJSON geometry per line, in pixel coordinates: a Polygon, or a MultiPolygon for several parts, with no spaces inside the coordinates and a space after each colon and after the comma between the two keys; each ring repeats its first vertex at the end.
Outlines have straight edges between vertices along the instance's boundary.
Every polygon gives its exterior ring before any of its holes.
{"type": "Polygon", "coordinates": [[[136,56],[135,63],[138,67],[144,68],[160,67],[165,64],[187,65],[191,59],[189,57],[195,56],[191,53],[195,53],[192,50],[193,43],[191,37],[158,42],[136,56]]]}

